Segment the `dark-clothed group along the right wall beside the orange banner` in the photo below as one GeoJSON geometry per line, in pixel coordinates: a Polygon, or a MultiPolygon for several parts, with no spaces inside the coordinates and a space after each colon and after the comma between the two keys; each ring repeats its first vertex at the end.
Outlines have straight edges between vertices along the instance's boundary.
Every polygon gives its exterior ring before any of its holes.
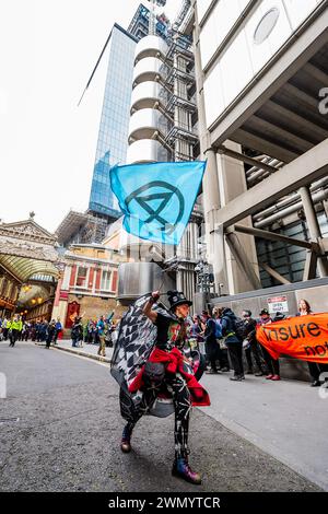
{"type": "MultiPolygon", "coordinates": [[[[304,316],[311,313],[308,302],[300,300],[295,315],[304,316]]],[[[257,319],[248,309],[243,311],[242,318],[229,307],[216,308],[212,315],[203,311],[201,315],[192,317],[190,338],[203,349],[208,364],[207,373],[218,374],[232,370],[233,376],[230,379],[234,382],[244,381],[245,374],[265,376],[266,379],[278,382],[281,379],[279,359],[273,359],[257,340],[256,330],[259,326],[284,318],[284,314],[279,312],[271,317],[267,308],[260,311],[257,319]]],[[[320,386],[320,374],[328,372],[328,364],[307,364],[312,387],[320,386]]]]}

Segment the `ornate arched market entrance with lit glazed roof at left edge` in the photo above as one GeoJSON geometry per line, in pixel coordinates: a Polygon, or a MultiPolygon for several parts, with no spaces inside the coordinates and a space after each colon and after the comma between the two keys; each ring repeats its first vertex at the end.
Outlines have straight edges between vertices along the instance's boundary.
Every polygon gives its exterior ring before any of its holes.
{"type": "Polygon", "coordinates": [[[30,219],[0,224],[0,317],[50,319],[62,264],[56,237],[30,219]]]}

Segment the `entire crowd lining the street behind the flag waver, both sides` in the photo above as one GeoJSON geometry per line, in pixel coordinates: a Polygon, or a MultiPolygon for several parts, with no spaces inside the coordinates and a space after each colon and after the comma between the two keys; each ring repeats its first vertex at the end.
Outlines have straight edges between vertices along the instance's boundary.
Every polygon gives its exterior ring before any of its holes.
{"type": "MultiPolygon", "coordinates": [[[[295,316],[312,314],[306,300],[300,300],[295,316]]],[[[189,341],[191,347],[197,346],[206,357],[209,374],[226,373],[233,371],[231,381],[241,382],[246,375],[265,376],[277,382],[281,379],[279,360],[274,360],[268,350],[256,338],[256,329],[261,325],[284,319],[282,313],[270,316],[267,308],[262,308],[259,317],[244,309],[238,318],[231,308],[221,307],[212,315],[203,311],[201,315],[189,318],[189,341]],[[245,357],[244,357],[245,355],[245,357]],[[247,367],[245,371],[245,366],[247,367]]],[[[114,320],[113,314],[108,317],[101,315],[98,319],[83,322],[83,315],[77,316],[71,327],[72,347],[97,344],[98,354],[106,357],[106,347],[113,347],[113,334],[117,330],[119,319],[114,320]]],[[[10,347],[16,341],[45,342],[46,348],[56,344],[62,331],[60,318],[47,322],[23,320],[15,315],[12,318],[0,318],[0,340],[9,340],[10,347]]],[[[320,374],[328,372],[328,364],[308,362],[308,371],[313,387],[320,386],[320,374]]]]}

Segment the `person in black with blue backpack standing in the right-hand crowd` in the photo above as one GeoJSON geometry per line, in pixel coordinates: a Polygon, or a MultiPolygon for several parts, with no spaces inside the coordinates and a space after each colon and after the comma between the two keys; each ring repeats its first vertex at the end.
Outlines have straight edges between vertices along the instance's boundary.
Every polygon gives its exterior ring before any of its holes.
{"type": "Polygon", "coordinates": [[[243,340],[237,336],[236,315],[230,307],[225,307],[221,315],[222,336],[226,344],[234,375],[231,381],[241,382],[245,379],[243,365],[243,340]]]}

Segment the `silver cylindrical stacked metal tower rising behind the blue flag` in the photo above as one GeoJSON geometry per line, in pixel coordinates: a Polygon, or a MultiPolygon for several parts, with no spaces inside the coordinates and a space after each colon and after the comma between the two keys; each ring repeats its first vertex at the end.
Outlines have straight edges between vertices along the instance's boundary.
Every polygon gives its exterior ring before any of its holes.
{"type": "MultiPolygon", "coordinates": [[[[184,0],[177,19],[173,24],[167,23],[167,30],[162,33],[156,31],[155,8],[164,7],[165,1],[151,3],[147,32],[134,48],[126,162],[194,161],[200,153],[195,58],[192,32],[185,31],[192,21],[191,3],[184,0]]],[[[137,13],[128,32],[136,34],[138,19],[137,13]]],[[[137,32],[139,27],[138,24],[137,32]]],[[[127,262],[119,266],[118,300],[129,303],[160,287],[163,291],[177,288],[192,297],[197,289],[195,269],[201,254],[202,219],[198,199],[176,246],[139,240],[122,230],[121,219],[114,223],[106,244],[115,242],[127,256],[127,262]]]]}

